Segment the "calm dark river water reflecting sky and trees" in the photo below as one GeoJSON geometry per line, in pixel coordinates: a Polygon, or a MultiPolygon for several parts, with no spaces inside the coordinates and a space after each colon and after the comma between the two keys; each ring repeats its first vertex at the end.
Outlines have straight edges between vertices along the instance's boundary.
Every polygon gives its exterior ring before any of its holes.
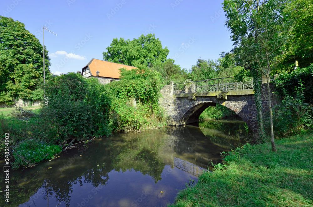
{"type": "Polygon", "coordinates": [[[114,134],[10,172],[10,203],[1,206],[166,206],[197,182],[220,152],[251,137],[238,120],[114,134]],[[162,193],[161,193],[162,191],[162,193]]]}

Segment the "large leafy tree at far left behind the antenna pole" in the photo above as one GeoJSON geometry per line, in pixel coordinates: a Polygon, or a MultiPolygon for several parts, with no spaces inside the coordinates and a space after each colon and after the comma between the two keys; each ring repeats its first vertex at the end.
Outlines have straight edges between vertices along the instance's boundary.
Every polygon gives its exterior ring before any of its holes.
{"type": "MultiPolygon", "coordinates": [[[[49,71],[45,50],[46,77],[49,71]]],[[[30,98],[43,81],[43,46],[21,22],[0,16],[0,103],[14,98],[30,98]]]]}

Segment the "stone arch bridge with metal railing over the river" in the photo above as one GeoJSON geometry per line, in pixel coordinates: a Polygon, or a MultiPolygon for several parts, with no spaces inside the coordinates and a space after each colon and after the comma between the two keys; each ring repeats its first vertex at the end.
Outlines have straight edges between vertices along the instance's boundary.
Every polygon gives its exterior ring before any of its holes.
{"type": "MultiPolygon", "coordinates": [[[[272,87],[272,86],[271,86],[272,87]]],[[[272,89],[271,89],[272,90],[272,89]]],[[[200,114],[209,106],[221,104],[233,110],[257,132],[257,110],[252,79],[234,82],[234,77],[165,85],[161,89],[159,104],[165,109],[167,124],[179,126],[199,121],[200,114]]],[[[263,112],[269,109],[266,83],[261,88],[263,112]]],[[[278,101],[271,93],[272,106],[278,101]]]]}

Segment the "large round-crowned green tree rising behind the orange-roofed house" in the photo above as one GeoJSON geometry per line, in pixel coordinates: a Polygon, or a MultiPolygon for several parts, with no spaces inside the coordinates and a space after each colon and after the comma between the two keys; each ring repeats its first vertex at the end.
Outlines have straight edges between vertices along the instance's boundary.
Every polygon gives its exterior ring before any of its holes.
{"type": "Polygon", "coordinates": [[[162,48],[161,41],[154,34],[142,34],[133,40],[114,38],[106,50],[103,52],[104,60],[131,66],[142,64],[149,68],[164,63],[169,53],[167,47],[162,48]]]}

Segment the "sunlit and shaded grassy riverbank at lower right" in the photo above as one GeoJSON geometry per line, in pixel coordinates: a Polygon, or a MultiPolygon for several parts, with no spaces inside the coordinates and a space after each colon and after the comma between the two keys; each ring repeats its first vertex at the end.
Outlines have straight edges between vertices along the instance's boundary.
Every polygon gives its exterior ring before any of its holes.
{"type": "Polygon", "coordinates": [[[171,206],[313,206],[313,135],[276,140],[276,147],[232,151],[171,206]]]}

